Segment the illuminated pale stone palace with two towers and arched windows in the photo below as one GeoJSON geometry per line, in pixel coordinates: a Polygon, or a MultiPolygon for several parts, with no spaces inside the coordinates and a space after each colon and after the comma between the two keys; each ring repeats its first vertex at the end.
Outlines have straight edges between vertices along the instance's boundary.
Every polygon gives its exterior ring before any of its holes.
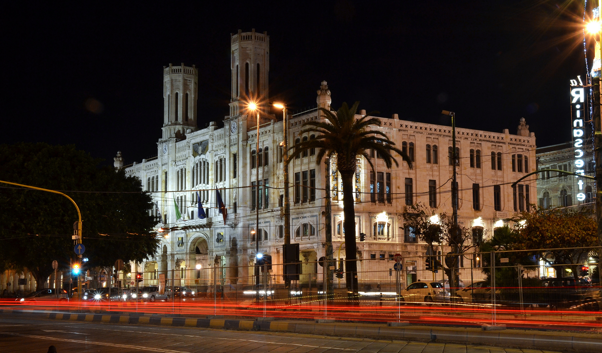
{"type": "MultiPolygon", "coordinates": [[[[266,104],[259,108],[257,134],[257,118],[247,110],[245,98],[261,96],[269,101],[268,48],[269,37],[265,33],[232,34],[232,97],[224,127],[212,122],[207,128],[197,128],[198,69],[184,64],[164,67],[163,137],[157,142],[157,157],[125,166],[126,173],[138,176],[144,190],[151,192],[157,205],[152,213],[161,217],[158,226],[165,230],[157,257],[138,265],[138,270],[146,272],[143,284],[157,283],[157,273],[171,273],[172,269],[176,279],[192,286],[199,283],[196,278],[206,279],[213,273],[219,273],[226,290],[229,285],[251,284],[256,242],[259,252],[272,255],[275,264],[282,263],[283,123],[281,117],[268,114],[266,104]],[[257,186],[259,199],[255,197],[257,186]],[[225,222],[217,209],[216,190],[227,208],[225,222]],[[199,217],[197,192],[206,213],[204,219],[199,217]],[[181,217],[176,216],[175,205],[181,217]],[[226,269],[214,271],[216,266],[226,269]]],[[[317,90],[317,106],[330,109],[330,104],[330,90],[323,81],[317,90]]],[[[288,145],[311,139],[311,134],[301,133],[302,125],[317,119],[320,117],[316,109],[288,116],[288,145]]],[[[436,213],[452,213],[452,132],[444,125],[402,120],[397,114],[379,119],[380,127],[375,128],[414,160],[414,169],[400,163],[388,170],[382,160],[373,157],[376,171],[372,173],[367,161],[358,158],[356,233],[366,234],[364,242],[358,240],[358,257],[362,259],[358,270],[385,270],[389,281],[388,269],[393,267],[392,257],[397,252],[407,257],[405,264],[410,269],[424,269],[423,261],[411,258],[424,255],[426,245],[405,225],[408,205],[421,202],[436,213]]],[[[493,133],[457,128],[456,132],[460,155],[459,222],[473,228],[475,239],[486,239],[515,211],[536,202],[535,176],[514,190],[509,184],[535,170],[535,134],[529,133],[524,119],[517,134],[510,134],[507,129],[493,133]]],[[[316,151],[308,151],[290,163],[290,233],[291,243],[300,245],[300,260],[304,263],[299,281],[302,286],[321,281],[321,267],[312,261],[324,255],[326,178],[332,184],[334,258],[344,257],[343,202],[337,191],[342,190],[341,179],[337,173],[325,175],[325,164],[316,164],[315,157],[316,151]]],[[[115,160],[116,167],[123,167],[120,155],[115,160]]],[[[334,163],[331,170],[336,170],[334,163]]],[[[444,254],[448,251],[438,250],[444,254]]],[[[470,266],[470,262],[465,266],[470,266]]],[[[275,266],[273,271],[272,275],[278,275],[282,269],[275,266]]],[[[407,279],[403,278],[404,282],[416,279],[417,275],[411,272],[407,279]]],[[[274,278],[276,283],[282,283],[282,276],[274,278]]],[[[360,273],[359,280],[375,281],[370,273],[360,273]]],[[[344,286],[344,280],[340,282],[344,286]]]]}

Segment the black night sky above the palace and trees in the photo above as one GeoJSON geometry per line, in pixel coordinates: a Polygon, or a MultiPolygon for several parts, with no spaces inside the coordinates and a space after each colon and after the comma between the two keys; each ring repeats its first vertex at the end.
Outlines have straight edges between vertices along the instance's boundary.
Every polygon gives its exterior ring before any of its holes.
{"type": "Polygon", "coordinates": [[[538,146],[570,138],[580,1],[208,3],[7,10],[4,143],[73,143],[111,163],[117,150],[126,163],[156,155],[163,66],[199,67],[205,127],[228,114],[229,34],[251,28],[270,35],[270,98],[291,111],[314,105],[326,80],[334,108],[359,100],[428,123],[448,123],[446,109],[459,127],[510,133],[525,117],[538,146]]]}

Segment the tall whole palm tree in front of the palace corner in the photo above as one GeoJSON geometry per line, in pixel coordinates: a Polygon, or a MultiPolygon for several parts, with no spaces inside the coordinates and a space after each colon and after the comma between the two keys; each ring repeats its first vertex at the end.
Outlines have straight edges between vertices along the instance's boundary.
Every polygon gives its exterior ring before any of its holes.
{"type": "Polygon", "coordinates": [[[395,146],[395,143],[386,137],[386,135],[377,130],[369,130],[371,125],[380,125],[380,120],[376,117],[368,118],[368,115],[356,117],[359,102],[355,102],[351,108],[347,103],[343,103],[336,112],[319,108],[323,113],[320,117],[325,120],[314,120],[303,124],[306,127],[302,133],[316,132],[319,135],[315,139],[309,139],[294,145],[293,153],[287,159],[290,161],[296,155],[308,151],[309,149],[318,149],[315,158],[317,164],[320,164],[324,157],[337,156],[337,170],[341,173],[343,181],[343,229],[345,233],[345,257],[347,262],[346,283],[347,290],[353,293],[358,292],[358,267],[356,264],[356,234],[355,234],[355,208],[353,199],[353,174],[356,170],[356,158],[362,156],[366,158],[374,171],[374,164],[370,160],[368,152],[373,149],[379,158],[385,161],[387,168],[391,168],[393,163],[399,166],[392,152],[397,152],[403,160],[412,167],[412,162],[408,155],[395,146]]]}

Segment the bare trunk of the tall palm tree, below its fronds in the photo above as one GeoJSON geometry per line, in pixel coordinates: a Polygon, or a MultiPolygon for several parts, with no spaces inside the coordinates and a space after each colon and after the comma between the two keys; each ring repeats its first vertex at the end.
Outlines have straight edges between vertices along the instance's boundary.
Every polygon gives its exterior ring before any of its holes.
{"type": "Polygon", "coordinates": [[[347,269],[346,283],[347,291],[354,296],[358,293],[358,264],[355,241],[355,205],[353,197],[353,173],[341,173],[343,181],[343,228],[345,231],[345,262],[347,269]]]}

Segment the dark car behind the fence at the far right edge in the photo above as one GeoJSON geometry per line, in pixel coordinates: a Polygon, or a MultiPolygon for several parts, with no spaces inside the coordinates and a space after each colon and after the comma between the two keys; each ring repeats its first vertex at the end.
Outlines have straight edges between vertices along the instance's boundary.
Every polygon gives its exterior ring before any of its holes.
{"type": "Polygon", "coordinates": [[[583,278],[545,278],[541,281],[541,287],[524,291],[527,292],[527,300],[540,307],[600,310],[600,288],[592,286],[583,278]]]}

